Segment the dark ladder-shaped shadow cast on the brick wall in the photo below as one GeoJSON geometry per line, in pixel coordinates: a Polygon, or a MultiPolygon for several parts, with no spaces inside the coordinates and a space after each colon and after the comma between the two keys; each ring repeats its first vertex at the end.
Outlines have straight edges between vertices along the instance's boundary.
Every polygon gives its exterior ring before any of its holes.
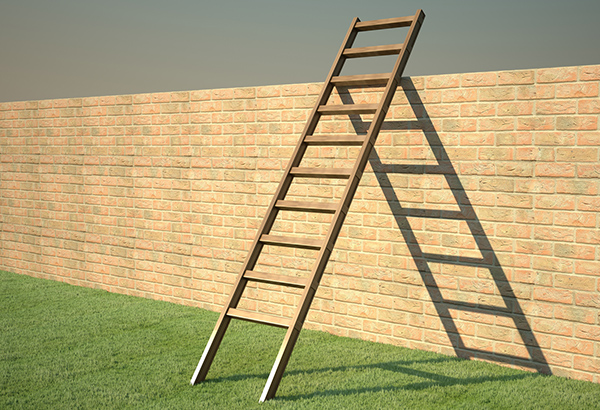
{"type": "MultiPolygon", "coordinates": [[[[544,353],[531,329],[529,321],[527,320],[519,300],[506,276],[504,268],[477,217],[475,209],[473,208],[454,165],[442,144],[440,136],[435,130],[434,124],[427,113],[419,93],[409,78],[403,78],[401,84],[402,90],[398,90],[398,92],[403,91],[406,94],[416,119],[407,121],[385,121],[382,130],[421,130],[435,156],[437,164],[384,164],[376,150],[372,151],[369,162],[455,354],[462,358],[478,358],[496,363],[507,363],[538,371],[540,373],[551,374],[550,367],[548,366],[544,353]],[[394,185],[390,180],[390,177],[393,175],[442,175],[446,185],[452,192],[456,205],[458,206],[458,211],[408,208],[402,206],[393,189],[394,185]],[[466,223],[481,257],[443,255],[423,251],[422,246],[419,244],[417,234],[411,227],[409,218],[453,220],[459,221],[459,223],[466,223]],[[464,297],[465,300],[454,300],[444,297],[442,291],[443,287],[438,284],[438,281],[436,281],[436,274],[431,269],[430,264],[432,263],[452,265],[455,267],[454,269],[475,269],[477,271],[489,272],[489,276],[493,279],[497,289],[497,291],[494,292],[494,295],[491,296],[500,296],[502,303],[490,303],[489,300],[493,299],[488,297],[490,295],[480,295],[475,301],[469,300],[468,296],[472,296],[472,294],[468,295],[467,293],[470,292],[461,292],[458,289],[454,289],[454,294],[459,297],[464,297]],[[512,328],[516,329],[522,344],[516,346],[511,342],[504,343],[503,346],[498,349],[504,350],[502,352],[470,347],[465,342],[469,336],[466,335],[465,337],[461,334],[459,326],[453,319],[453,317],[456,317],[456,314],[453,315],[452,311],[458,311],[459,313],[469,312],[470,314],[479,317],[500,317],[503,318],[501,320],[504,320],[505,322],[512,322],[512,328]],[[516,347],[520,348],[520,354],[512,354],[512,350],[516,347]]],[[[339,88],[338,91],[344,104],[353,103],[352,97],[347,90],[339,88]]],[[[350,119],[357,133],[364,133],[364,130],[368,128],[369,122],[363,121],[359,115],[353,115],[350,119]]],[[[496,320],[493,320],[492,323],[495,322],[496,320]]],[[[477,326],[479,327],[479,324],[477,324],[477,326]]],[[[499,325],[491,325],[490,327],[493,332],[495,330],[494,328],[498,328],[499,325]]],[[[488,341],[490,346],[502,344],[502,342],[496,342],[494,340],[488,341]]],[[[514,340],[514,342],[517,341],[514,340]]],[[[494,350],[495,349],[496,347],[494,347],[494,350]]]]}

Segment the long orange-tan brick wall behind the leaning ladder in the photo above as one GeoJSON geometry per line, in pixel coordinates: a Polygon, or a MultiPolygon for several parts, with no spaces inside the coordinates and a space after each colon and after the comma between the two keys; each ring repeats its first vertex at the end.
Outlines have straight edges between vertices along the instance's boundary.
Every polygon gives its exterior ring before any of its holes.
{"type": "MultiPolygon", "coordinates": [[[[306,326],[600,382],[599,84],[600,65],[403,79],[306,326]]],[[[320,86],[0,104],[0,268],[219,310],[320,86]]],[[[326,228],[282,212],[274,229],[326,228]]],[[[306,274],[310,252],[259,266],[306,274]]],[[[255,286],[242,306],[297,298],[255,286]]]]}

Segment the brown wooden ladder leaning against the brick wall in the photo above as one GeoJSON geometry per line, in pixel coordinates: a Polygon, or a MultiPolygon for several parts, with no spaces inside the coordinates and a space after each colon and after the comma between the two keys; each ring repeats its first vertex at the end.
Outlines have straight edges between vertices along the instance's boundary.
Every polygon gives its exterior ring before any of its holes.
{"type": "Polygon", "coordinates": [[[291,161],[269,205],[265,218],[258,230],[256,239],[244,262],[242,270],[233,286],[233,292],[215,325],[202,358],[192,376],[191,384],[196,384],[206,378],[206,374],[223,340],[223,336],[232,318],[262,323],[287,329],[287,333],[271,370],[267,384],[262,392],[260,401],[269,400],[275,396],[283,372],[292,354],[292,350],[306,319],[306,315],[315,296],[321,276],[333,251],[354,193],[358,188],[361,176],[369,159],[369,154],[375,145],[379,130],[385,119],[390,102],[398,85],[408,57],[415,43],[425,14],[418,10],[414,16],[382,20],[360,21],[355,18],[348,29],[346,37],[329,71],[327,80],[321,90],[315,107],[296,145],[291,161]],[[396,27],[409,27],[406,39],[402,44],[384,46],[356,47],[352,44],[361,31],[381,30],[396,27]],[[397,54],[398,58],[391,73],[340,76],[342,67],[349,58],[384,56],[397,54]],[[327,104],[334,87],[364,87],[385,86],[378,104],[327,104]],[[366,135],[348,136],[314,136],[313,132],[322,116],[331,115],[373,114],[371,125],[366,135]],[[353,168],[309,168],[300,167],[300,162],[310,145],[325,146],[360,146],[360,151],[353,168]],[[341,199],[335,202],[323,201],[291,201],[286,200],[286,194],[294,178],[333,178],[347,179],[346,188],[341,199]],[[298,238],[291,236],[271,235],[277,214],[281,210],[296,212],[316,212],[333,214],[333,218],[324,240],[298,238]],[[318,256],[308,278],[297,278],[290,275],[261,273],[254,271],[259,255],[265,245],[285,246],[318,251],[318,256]],[[304,289],[300,302],[291,318],[274,316],[265,313],[251,312],[238,309],[238,303],[248,282],[262,282],[281,286],[304,289]]]}

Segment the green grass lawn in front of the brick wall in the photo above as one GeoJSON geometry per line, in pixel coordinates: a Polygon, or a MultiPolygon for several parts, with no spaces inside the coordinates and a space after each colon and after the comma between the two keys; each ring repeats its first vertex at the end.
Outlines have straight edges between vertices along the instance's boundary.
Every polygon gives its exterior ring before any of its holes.
{"type": "Polygon", "coordinates": [[[0,408],[600,408],[600,385],[304,330],[259,404],[281,329],[234,321],[189,380],[217,314],[0,272],[0,408]]]}

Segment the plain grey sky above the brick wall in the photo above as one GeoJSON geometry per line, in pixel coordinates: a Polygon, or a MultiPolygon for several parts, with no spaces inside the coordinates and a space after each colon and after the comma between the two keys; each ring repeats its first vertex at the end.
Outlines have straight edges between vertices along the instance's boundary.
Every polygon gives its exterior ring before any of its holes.
{"type": "Polygon", "coordinates": [[[600,0],[0,0],[0,102],[320,82],[419,8],[405,76],[600,64],[600,0]]]}

